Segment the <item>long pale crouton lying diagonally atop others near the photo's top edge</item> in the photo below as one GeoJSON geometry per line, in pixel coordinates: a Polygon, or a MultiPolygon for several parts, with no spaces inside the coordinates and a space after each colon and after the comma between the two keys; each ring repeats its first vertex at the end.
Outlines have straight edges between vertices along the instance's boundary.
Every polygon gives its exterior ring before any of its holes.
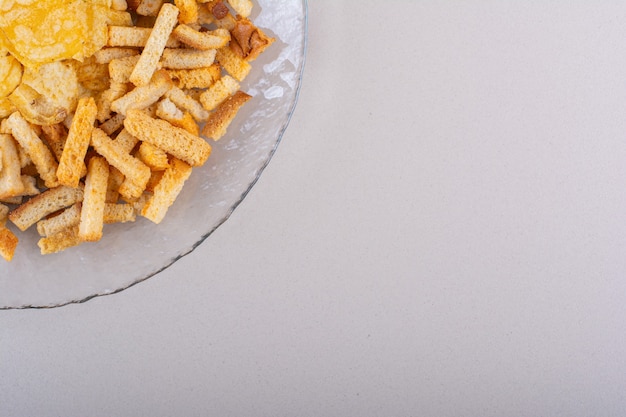
{"type": "Polygon", "coordinates": [[[146,46],[141,52],[137,65],[133,69],[129,80],[136,86],[148,84],[157,69],[159,59],[172,34],[178,19],[178,9],[170,3],[161,6],[157,20],[150,32],[146,46]]]}

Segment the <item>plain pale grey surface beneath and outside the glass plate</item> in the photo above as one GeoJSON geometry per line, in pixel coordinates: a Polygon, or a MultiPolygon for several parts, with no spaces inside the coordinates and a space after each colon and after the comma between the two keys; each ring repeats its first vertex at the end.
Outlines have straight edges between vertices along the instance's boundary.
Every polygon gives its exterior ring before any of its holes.
{"type": "Polygon", "coordinates": [[[140,285],[0,312],[0,415],[623,415],[626,4],[309,3],[250,195],[140,285]]]}

